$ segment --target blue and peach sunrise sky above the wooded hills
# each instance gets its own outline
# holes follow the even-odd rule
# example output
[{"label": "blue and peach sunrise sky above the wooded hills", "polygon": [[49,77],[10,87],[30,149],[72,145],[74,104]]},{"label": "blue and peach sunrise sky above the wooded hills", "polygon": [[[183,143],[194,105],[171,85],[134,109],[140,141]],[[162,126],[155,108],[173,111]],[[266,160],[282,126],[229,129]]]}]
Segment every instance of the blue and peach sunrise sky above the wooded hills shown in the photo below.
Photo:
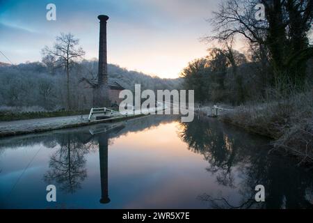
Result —
[{"label": "blue and peach sunrise sky above the wooded hills", "polygon": [[[109,15],[108,62],[148,75],[175,78],[189,61],[207,54],[200,38],[216,0],[0,0],[0,50],[13,63],[40,61],[40,50],[59,33],[72,33],[86,52],[98,56],[99,20]],[[46,6],[56,5],[56,21]],[[0,54],[0,61],[6,58]]]}]

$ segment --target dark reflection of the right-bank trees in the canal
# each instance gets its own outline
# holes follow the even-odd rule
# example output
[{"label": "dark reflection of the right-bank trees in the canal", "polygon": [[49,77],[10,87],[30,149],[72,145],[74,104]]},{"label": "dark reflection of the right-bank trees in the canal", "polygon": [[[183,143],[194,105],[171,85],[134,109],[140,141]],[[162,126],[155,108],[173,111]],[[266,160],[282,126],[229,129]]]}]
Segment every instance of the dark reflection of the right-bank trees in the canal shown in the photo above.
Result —
[{"label": "dark reflection of the right-bank trees in the canal", "polygon": [[[211,208],[312,208],[312,171],[296,167],[289,157],[268,153],[268,140],[200,118],[181,123],[179,137],[209,162],[207,171],[219,185],[238,189],[241,201],[202,194]],[[239,180],[235,180],[235,177]],[[236,182],[236,183],[235,183]],[[255,186],[265,187],[265,202],[255,201]]]}]

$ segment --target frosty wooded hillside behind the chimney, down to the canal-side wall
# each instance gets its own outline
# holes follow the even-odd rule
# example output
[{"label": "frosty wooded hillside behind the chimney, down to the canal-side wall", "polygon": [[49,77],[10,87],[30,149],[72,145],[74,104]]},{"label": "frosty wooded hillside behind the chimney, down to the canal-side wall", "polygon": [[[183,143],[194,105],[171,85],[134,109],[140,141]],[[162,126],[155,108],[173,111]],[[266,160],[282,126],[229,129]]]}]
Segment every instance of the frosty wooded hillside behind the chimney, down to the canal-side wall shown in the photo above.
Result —
[{"label": "frosty wooded hillside behind the chimney, down to the canal-side wall", "polygon": [[[62,67],[54,63],[20,63],[0,66],[0,111],[56,111],[67,105],[67,78]],[[74,63],[70,71],[70,98],[72,108],[81,110],[90,108],[88,102],[93,94],[79,84],[81,79],[97,81],[97,61]],[[181,79],[161,79],[142,72],[108,66],[109,80],[116,81],[125,89],[134,90],[135,84],[141,89],[172,90],[179,89]],[[17,109],[18,108],[18,109]]]}]

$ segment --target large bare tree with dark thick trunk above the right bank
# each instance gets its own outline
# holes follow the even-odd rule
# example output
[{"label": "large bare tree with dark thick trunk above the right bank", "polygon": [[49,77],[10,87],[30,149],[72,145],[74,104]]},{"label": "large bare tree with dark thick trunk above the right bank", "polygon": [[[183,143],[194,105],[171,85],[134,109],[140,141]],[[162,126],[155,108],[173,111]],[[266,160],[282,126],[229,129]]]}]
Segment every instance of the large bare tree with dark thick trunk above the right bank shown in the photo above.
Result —
[{"label": "large bare tree with dark thick trunk above the right bank", "polygon": [[[255,19],[257,3],[264,4],[266,20]],[[239,34],[250,43],[264,45],[275,87],[300,87],[306,61],[313,55],[307,38],[312,12],[312,0],[225,0],[210,20],[215,29],[208,39],[229,40]]]}]

